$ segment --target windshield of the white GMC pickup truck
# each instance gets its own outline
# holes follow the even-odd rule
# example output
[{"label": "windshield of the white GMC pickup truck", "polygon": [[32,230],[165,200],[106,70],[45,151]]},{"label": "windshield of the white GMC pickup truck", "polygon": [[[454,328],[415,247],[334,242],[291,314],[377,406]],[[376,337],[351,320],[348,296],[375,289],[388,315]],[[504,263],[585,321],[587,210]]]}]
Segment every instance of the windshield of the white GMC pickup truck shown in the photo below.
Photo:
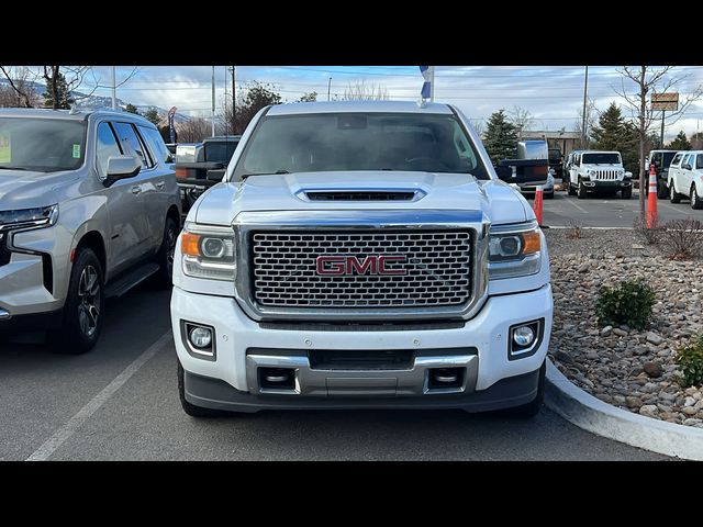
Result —
[{"label": "windshield of the white GMC pickup truck", "polygon": [[234,179],[326,170],[471,172],[489,179],[456,116],[415,113],[266,116],[247,142]]}]

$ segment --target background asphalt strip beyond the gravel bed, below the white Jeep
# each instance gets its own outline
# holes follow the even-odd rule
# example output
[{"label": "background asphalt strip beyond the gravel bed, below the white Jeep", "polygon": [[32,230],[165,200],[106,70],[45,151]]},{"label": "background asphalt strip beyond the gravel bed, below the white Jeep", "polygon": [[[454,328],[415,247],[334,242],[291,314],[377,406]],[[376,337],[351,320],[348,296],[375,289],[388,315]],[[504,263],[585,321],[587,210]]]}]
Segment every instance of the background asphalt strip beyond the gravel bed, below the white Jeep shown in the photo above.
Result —
[{"label": "background asphalt strip beyond the gravel bed, below the white Jeep", "polygon": [[[635,190],[629,200],[591,194],[579,200],[565,191],[557,191],[553,200],[544,200],[543,223],[550,227],[568,227],[572,224],[583,227],[632,227],[639,216],[638,192]],[[659,223],[689,217],[703,221],[703,211],[691,209],[688,200],[676,205],[669,200],[658,200],[657,209]]]}]

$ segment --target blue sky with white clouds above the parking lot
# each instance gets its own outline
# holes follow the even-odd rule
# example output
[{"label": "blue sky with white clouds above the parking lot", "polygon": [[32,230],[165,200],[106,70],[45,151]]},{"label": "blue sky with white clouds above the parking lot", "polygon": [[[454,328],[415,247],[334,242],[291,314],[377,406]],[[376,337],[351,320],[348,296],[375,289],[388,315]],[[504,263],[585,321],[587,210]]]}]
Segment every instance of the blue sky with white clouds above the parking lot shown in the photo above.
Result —
[{"label": "blue sky with white clouds above the parking lot", "polygon": [[[227,68],[215,66],[217,110],[225,100],[227,103],[231,100],[232,78]],[[110,70],[94,67],[80,91],[98,83],[104,88],[97,93],[109,96]],[[118,83],[132,70],[118,67]],[[235,71],[237,92],[249,81],[268,82],[284,101],[294,101],[311,91],[317,92],[317,100],[326,100],[328,83],[334,98],[357,82],[383,88],[391,100],[417,100],[423,82],[416,66],[236,66]],[[703,67],[680,66],[672,72],[682,78],[676,86],[682,98],[703,85]],[[211,66],[142,66],[118,88],[118,97],[133,104],[164,109],[175,105],[186,115],[210,116],[211,81]],[[589,67],[588,97],[600,111],[612,101],[618,102],[628,116],[628,106],[615,92],[622,90],[623,81],[628,92],[636,90],[632,81],[617,72],[617,67]],[[531,130],[574,131],[583,105],[583,66],[436,66],[435,101],[456,104],[473,122],[484,122],[496,110],[510,113],[518,106],[531,113]],[[688,135],[703,131],[703,100],[693,103],[677,122],[670,121],[673,119],[667,121],[667,141],[680,130]],[[658,125],[656,130],[659,131]]]}]

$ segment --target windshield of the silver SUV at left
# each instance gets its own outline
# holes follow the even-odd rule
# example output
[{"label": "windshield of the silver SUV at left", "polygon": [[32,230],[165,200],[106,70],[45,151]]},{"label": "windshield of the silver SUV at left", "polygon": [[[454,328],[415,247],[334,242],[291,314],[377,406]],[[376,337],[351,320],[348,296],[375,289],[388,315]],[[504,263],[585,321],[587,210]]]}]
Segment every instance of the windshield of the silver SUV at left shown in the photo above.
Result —
[{"label": "windshield of the silver SUV at left", "polygon": [[74,170],[83,162],[85,145],[80,121],[0,117],[0,170]]}]

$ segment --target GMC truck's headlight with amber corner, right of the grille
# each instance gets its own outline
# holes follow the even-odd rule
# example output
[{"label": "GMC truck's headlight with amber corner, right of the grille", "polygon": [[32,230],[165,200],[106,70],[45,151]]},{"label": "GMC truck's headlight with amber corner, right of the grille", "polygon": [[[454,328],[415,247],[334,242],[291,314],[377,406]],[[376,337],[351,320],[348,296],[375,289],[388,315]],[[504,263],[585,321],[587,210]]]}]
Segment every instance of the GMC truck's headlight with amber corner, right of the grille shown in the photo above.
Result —
[{"label": "GMC truck's headlight with amber corner, right of the grille", "polygon": [[542,233],[537,222],[491,227],[488,243],[489,278],[526,277],[542,267]]}]

